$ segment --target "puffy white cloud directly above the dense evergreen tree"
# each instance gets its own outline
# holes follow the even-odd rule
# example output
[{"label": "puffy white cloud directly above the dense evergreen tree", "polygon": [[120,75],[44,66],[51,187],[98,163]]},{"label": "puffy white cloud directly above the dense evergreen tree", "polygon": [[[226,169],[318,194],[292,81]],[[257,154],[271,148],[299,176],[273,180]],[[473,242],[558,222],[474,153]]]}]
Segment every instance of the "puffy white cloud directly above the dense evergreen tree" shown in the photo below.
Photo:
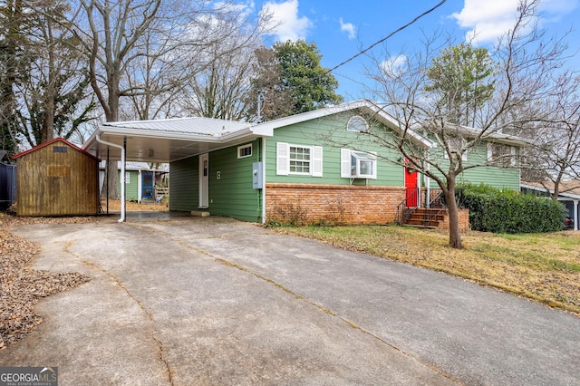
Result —
[{"label": "puffy white cloud directly above the dense evergreen tree", "polygon": [[274,35],[280,42],[287,40],[295,42],[305,39],[312,22],[308,17],[298,16],[298,0],[287,0],[282,3],[268,1],[260,11],[261,15],[270,15],[270,26],[274,28]]}]

